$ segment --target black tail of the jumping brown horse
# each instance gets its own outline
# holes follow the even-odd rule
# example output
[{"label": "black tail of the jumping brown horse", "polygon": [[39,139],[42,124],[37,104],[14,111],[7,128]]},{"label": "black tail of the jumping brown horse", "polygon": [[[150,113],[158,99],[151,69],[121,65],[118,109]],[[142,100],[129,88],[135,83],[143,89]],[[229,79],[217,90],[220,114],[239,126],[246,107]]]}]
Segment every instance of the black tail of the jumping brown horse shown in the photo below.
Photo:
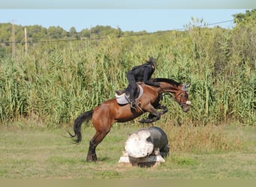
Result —
[{"label": "black tail of the jumping brown horse", "polygon": [[73,126],[75,135],[72,135],[70,132],[68,132],[70,134],[71,138],[73,138],[73,141],[75,144],[79,144],[80,141],[82,140],[82,133],[81,133],[82,123],[85,120],[86,121],[91,120],[91,117],[93,114],[94,114],[94,110],[85,111],[85,113],[80,114],[79,117],[76,118],[74,126]]}]

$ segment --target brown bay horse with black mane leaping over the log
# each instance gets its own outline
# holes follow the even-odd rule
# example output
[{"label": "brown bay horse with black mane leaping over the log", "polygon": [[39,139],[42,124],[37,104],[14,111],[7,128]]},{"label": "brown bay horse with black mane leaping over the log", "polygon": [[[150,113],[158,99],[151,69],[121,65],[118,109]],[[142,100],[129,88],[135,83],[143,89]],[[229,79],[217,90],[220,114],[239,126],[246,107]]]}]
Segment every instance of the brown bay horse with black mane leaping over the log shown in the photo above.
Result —
[{"label": "brown bay horse with black mane leaping over the log", "polygon": [[[92,120],[96,133],[91,138],[87,155],[87,162],[96,162],[97,154],[96,147],[103,141],[103,138],[110,132],[113,123],[124,123],[135,119],[136,117],[149,112],[148,119],[140,120],[141,123],[152,123],[159,120],[162,114],[168,111],[167,107],[159,102],[162,99],[162,94],[170,93],[174,96],[174,100],[180,105],[184,112],[189,111],[191,102],[189,101],[189,85],[175,82],[172,79],[156,78],[153,82],[159,82],[159,87],[145,85],[143,82],[138,82],[143,88],[143,94],[137,99],[135,109],[130,108],[130,105],[120,105],[117,100],[109,99],[97,105],[90,111],[85,111],[76,118],[73,125],[74,135],[70,132],[69,135],[75,144],[82,141],[81,126],[84,121]],[[161,109],[161,111],[157,111]]]}]

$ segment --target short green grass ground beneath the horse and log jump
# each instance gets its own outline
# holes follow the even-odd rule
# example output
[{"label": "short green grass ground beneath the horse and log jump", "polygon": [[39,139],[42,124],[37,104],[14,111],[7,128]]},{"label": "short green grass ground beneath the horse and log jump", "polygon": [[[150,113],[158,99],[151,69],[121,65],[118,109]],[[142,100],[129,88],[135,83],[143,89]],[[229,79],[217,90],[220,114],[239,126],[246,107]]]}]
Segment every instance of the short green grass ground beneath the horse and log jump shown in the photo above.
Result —
[{"label": "short green grass ground beneath the horse and log jump", "polygon": [[[153,168],[118,164],[124,142],[130,132],[140,128],[138,126],[113,126],[97,147],[99,161],[93,163],[85,162],[88,142],[94,135],[91,126],[83,125],[82,143],[77,146],[65,138],[66,130],[71,128],[33,129],[22,127],[22,123],[0,128],[1,179],[255,179],[256,176],[255,126],[216,127],[222,132],[222,138],[235,139],[240,145],[229,150],[196,151],[173,147],[165,163]],[[182,126],[175,128],[187,131]],[[189,128],[195,132],[198,127]],[[177,144],[175,140],[173,144]],[[183,144],[190,144],[189,139]]]}]

